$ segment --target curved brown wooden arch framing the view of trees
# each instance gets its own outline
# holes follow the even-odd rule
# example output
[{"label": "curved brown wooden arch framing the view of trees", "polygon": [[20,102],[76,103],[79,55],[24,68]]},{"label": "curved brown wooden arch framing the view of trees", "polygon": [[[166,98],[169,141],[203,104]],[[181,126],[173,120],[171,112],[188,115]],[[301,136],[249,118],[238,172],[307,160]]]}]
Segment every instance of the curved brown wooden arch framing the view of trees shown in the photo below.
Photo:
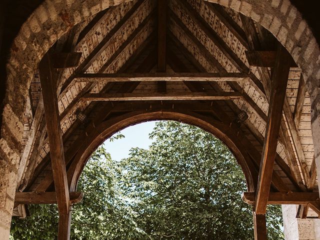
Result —
[{"label": "curved brown wooden arch framing the view of trees", "polygon": [[96,126],[94,131],[86,137],[80,150],[75,155],[67,170],[67,178],[70,191],[76,189],[78,179],[89,159],[92,152],[108,137],[116,131],[121,130],[130,125],[150,121],[150,120],[176,120],[187,124],[196,125],[219,138],[231,150],[238,164],[244,173],[247,188],[254,191],[257,182],[257,169],[252,163],[251,158],[244,150],[236,132],[234,132],[227,124],[211,118],[199,116],[194,112],[177,111],[177,110],[151,110],[151,111],[134,111],[126,113],[120,117],[106,120]]}]

